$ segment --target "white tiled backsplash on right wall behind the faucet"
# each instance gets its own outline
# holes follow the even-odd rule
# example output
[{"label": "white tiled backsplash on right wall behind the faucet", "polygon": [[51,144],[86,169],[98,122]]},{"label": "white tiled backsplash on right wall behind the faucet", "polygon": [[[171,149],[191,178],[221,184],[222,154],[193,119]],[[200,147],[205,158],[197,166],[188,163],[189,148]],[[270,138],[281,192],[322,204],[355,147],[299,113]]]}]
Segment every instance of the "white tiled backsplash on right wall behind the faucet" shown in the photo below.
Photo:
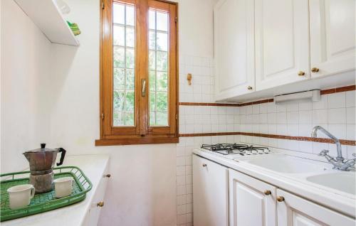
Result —
[{"label": "white tiled backsplash on right wall behind the faucet", "polygon": [[[339,139],[355,140],[355,91],[322,95],[318,102],[296,102],[276,105],[273,102],[248,105],[240,108],[240,131],[286,136],[310,136],[311,130],[320,125]],[[318,133],[319,137],[325,137]],[[318,154],[329,149],[336,154],[335,144],[310,141],[271,139],[242,136],[241,142],[260,144]],[[355,146],[342,146],[350,158]]]}]

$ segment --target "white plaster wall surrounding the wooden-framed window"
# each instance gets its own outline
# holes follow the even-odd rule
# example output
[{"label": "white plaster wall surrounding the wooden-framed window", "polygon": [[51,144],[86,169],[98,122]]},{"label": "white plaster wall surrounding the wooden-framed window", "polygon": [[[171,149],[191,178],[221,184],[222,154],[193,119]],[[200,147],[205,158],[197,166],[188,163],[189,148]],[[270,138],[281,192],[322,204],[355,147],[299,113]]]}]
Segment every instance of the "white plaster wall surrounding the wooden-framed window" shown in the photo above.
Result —
[{"label": "white plaster wall surrounding the wooden-framed window", "polygon": [[[63,146],[68,154],[110,154],[112,177],[100,225],[176,225],[175,144],[94,146],[100,120],[99,1],[67,2],[68,18],[82,33],[78,48],[53,44],[51,146]],[[180,58],[212,57],[209,21],[212,1],[179,1]]]}]

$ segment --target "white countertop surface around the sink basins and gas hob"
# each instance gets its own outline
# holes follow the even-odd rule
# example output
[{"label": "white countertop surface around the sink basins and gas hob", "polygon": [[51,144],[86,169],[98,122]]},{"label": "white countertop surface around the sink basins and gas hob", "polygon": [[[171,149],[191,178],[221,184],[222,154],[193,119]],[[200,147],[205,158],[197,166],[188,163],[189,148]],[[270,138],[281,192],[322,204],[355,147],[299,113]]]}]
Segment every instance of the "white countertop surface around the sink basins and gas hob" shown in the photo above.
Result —
[{"label": "white countertop surface around the sink basins and gas hob", "polygon": [[[278,151],[279,154],[288,154],[290,156],[298,156],[320,161],[320,157],[316,157],[316,155],[312,154],[303,154],[281,149],[275,149],[275,151]],[[234,161],[229,158],[224,158],[224,156],[213,154],[210,151],[194,149],[193,153],[228,168],[240,171],[241,173],[246,173],[248,176],[258,178],[261,181],[275,185],[278,188],[299,195],[300,197],[311,200],[314,203],[336,210],[337,212],[342,212],[350,217],[355,217],[355,195],[311,183],[298,177],[298,175],[294,173],[278,173],[276,171],[268,170],[267,168],[262,168],[261,166],[255,166],[248,162]]]}]

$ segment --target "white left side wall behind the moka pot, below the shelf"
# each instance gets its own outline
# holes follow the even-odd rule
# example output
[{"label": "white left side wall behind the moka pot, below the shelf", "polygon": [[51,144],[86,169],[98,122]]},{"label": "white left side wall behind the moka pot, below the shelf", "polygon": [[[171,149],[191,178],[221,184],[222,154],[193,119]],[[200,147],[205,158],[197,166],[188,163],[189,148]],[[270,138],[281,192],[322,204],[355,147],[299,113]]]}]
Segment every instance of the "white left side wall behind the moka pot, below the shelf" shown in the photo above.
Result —
[{"label": "white left side wall behind the moka pot, below the shelf", "polygon": [[49,140],[51,43],[13,0],[1,0],[1,173]]}]

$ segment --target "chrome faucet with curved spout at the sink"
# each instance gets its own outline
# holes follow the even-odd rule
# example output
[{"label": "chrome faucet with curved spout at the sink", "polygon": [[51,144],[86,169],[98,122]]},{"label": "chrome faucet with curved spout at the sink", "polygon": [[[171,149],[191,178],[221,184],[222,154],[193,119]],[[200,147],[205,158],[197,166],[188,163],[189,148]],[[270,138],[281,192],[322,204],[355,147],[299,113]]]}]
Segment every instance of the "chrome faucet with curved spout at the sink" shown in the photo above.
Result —
[{"label": "chrome faucet with curved spout at the sink", "polygon": [[[312,137],[317,137],[317,131],[318,130],[322,131],[324,134],[326,134],[331,139],[333,139],[333,141],[336,144],[336,149],[337,149],[337,157],[336,158],[334,158],[332,156],[329,156],[328,155],[328,153],[329,153],[328,150],[321,151],[319,156],[325,156],[325,158],[328,160],[328,162],[333,164],[334,168],[336,168],[337,170],[350,171],[350,168],[355,166],[356,158],[347,160],[344,157],[342,157],[341,144],[340,144],[339,139],[337,139],[333,134],[330,134],[330,132],[327,131],[326,129],[324,129],[323,127],[320,127],[320,126],[314,127],[313,130],[312,130],[311,136]],[[352,154],[352,156],[356,156],[356,155]]]}]

